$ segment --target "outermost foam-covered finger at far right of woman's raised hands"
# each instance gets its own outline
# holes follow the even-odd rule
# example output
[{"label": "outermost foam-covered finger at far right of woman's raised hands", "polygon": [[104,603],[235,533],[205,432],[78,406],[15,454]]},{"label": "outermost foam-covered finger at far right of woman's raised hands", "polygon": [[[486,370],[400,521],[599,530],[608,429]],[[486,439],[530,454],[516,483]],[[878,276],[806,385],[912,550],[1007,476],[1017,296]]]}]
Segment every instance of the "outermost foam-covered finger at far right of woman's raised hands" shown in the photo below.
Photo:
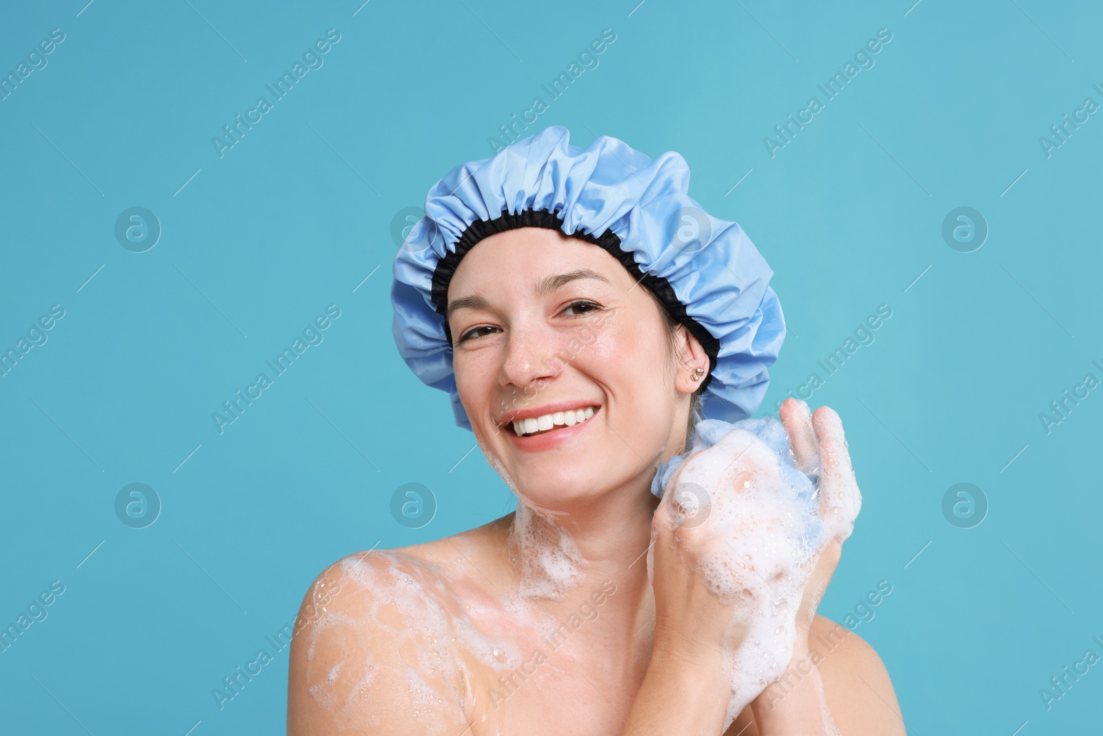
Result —
[{"label": "outermost foam-covered finger at far right of woman's raised hands", "polygon": [[845,540],[861,508],[861,492],[850,465],[843,420],[831,407],[821,406],[812,415],[812,426],[820,440],[820,515],[833,534]]}]

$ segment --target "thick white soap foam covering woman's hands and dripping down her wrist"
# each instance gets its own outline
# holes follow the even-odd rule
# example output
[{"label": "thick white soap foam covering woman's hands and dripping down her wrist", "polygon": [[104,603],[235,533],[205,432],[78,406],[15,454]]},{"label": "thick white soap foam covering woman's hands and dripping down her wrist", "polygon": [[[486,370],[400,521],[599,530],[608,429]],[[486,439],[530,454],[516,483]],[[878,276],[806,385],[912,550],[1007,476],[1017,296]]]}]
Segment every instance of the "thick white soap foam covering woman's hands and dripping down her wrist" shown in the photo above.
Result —
[{"label": "thick white soap foam covering woman's hands and dripping down her wrist", "polygon": [[843,477],[842,448],[832,447],[833,457],[824,458],[824,471],[833,473],[825,486],[839,492],[824,503],[821,479],[796,468],[784,425],[772,416],[698,423],[693,450],[656,474],[671,494],[666,503],[674,513],[667,522],[695,527],[704,550],[697,573],[724,602],[735,604],[730,626],[745,631],[739,648],[725,652],[731,675],[725,729],[784,673],[801,598],[820,554],[831,538],[845,540],[854,529],[861,495],[853,474]]}]

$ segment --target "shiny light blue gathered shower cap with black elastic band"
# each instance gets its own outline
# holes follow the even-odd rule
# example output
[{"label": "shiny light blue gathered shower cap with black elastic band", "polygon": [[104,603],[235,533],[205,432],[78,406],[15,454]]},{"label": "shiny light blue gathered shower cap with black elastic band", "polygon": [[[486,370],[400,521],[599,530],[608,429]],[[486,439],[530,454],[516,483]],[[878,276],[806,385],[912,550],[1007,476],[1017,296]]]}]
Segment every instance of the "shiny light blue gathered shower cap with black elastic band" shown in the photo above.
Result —
[{"label": "shiny light blue gathered shower cap with black elastic band", "polygon": [[456,387],[448,284],[484,237],[546,227],[601,246],[686,326],[708,353],[702,413],[737,422],[758,410],[785,321],[773,271],[733,222],[689,196],[689,167],[674,151],[652,160],[617,138],[585,149],[550,126],[493,157],[449,171],[394,263],[392,324],[398,353],[426,385],[447,391],[456,424],[471,429]]}]

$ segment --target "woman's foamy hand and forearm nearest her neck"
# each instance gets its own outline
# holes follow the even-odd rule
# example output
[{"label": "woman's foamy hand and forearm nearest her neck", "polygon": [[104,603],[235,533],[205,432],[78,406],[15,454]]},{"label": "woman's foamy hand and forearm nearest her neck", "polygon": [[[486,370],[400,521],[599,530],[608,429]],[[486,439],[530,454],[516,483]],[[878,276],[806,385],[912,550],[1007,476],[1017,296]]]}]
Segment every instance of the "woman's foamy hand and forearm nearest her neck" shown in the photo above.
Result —
[{"label": "woman's foamy hand and forearm nearest her neck", "polygon": [[[716,446],[689,455],[671,478],[652,520],[647,551],[655,600],[652,657],[625,735],[718,734],[765,684],[741,702],[731,697],[735,653],[753,611],[761,608],[760,598],[733,583],[749,579],[758,588],[763,573],[732,546],[737,533],[729,522],[738,518],[733,500],[761,495],[780,483],[773,451],[746,430],[733,430]],[[784,520],[773,512],[783,515],[780,508],[772,509],[765,526],[780,531]],[[745,536],[751,543],[758,538]],[[726,569],[728,564],[733,567]],[[764,569],[765,576],[775,575],[771,567]],[[789,601],[790,619],[799,597]],[[786,661],[781,659],[781,665]],[[673,698],[677,708],[672,708]]]}]

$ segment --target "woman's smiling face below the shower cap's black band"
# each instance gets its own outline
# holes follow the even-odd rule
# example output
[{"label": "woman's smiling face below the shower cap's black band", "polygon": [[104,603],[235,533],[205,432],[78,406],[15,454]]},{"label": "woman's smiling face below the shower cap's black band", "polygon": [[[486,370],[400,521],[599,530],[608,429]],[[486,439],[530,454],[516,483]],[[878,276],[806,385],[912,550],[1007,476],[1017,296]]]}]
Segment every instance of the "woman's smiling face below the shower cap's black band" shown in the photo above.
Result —
[{"label": "woman's smiling face below the shower cap's black band", "polygon": [[[448,305],[475,438],[531,504],[647,486],[679,449],[689,394],[675,387],[662,307],[601,247],[540,227],[491,235],[460,262]],[[595,414],[572,426],[557,414],[578,409]],[[518,415],[552,415],[553,428],[518,436]]]}]

